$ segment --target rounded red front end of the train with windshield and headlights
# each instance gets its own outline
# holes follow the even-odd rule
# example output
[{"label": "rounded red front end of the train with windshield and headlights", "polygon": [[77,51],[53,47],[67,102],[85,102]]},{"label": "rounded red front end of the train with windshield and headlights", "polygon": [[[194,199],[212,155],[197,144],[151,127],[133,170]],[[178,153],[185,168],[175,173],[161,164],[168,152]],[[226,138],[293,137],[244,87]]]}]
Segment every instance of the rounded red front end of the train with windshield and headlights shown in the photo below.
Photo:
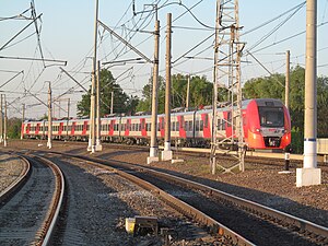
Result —
[{"label": "rounded red front end of the train with windshield and headlights", "polygon": [[250,99],[244,132],[249,149],[284,150],[291,144],[291,118],[279,99]]}]

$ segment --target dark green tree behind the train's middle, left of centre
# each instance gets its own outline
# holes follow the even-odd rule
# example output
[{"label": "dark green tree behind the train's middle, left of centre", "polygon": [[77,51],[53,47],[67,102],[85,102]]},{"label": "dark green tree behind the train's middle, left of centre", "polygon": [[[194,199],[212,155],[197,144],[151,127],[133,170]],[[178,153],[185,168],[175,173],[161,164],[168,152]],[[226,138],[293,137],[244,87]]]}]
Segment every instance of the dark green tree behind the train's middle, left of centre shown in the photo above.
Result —
[{"label": "dark green tree behind the train's middle, left of centre", "polygon": [[[137,96],[128,96],[119,84],[116,83],[112,72],[107,69],[102,69],[99,74],[101,81],[101,116],[110,113],[112,92],[114,92],[114,113],[133,114],[138,105],[139,98]],[[78,103],[78,115],[90,115],[90,97],[91,86],[86,94],[82,95],[82,99]]]}]

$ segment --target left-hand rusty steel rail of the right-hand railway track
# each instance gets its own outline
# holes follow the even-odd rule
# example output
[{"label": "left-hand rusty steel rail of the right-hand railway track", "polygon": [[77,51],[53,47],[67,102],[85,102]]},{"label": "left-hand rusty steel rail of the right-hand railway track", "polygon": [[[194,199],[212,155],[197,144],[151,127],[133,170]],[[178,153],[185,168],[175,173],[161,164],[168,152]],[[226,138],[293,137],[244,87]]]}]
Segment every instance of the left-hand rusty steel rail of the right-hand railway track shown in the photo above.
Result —
[{"label": "left-hand rusty steel rail of the right-hand railway track", "polygon": [[[59,152],[50,152],[50,153],[62,155],[62,153],[59,153]],[[142,187],[143,189],[149,190],[153,195],[157,196],[160,199],[165,201],[168,206],[171,206],[175,210],[179,211],[180,213],[185,214],[186,216],[191,218],[191,219],[198,221],[199,223],[206,225],[211,233],[222,236],[223,238],[225,238],[236,245],[245,245],[245,246],[254,246],[255,245],[254,243],[244,238],[242,235],[239,235],[239,234],[235,233],[234,231],[230,230],[229,227],[224,226],[220,222],[208,216],[207,214],[204,214],[201,211],[197,210],[196,208],[189,206],[188,203],[179,200],[178,198],[165,192],[164,190],[160,189],[159,187],[152,185],[151,183],[145,181],[132,174],[128,174],[127,172],[120,171],[113,166],[109,167],[109,166],[105,165],[104,160],[89,157],[89,156],[81,157],[81,156],[74,155],[74,154],[65,154],[65,156],[74,157],[78,160],[83,159],[84,161],[87,161],[87,162],[92,163],[93,165],[96,165],[101,168],[114,171],[121,177],[132,181],[133,184],[137,184],[138,186]],[[109,164],[109,163],[106,163],[106,164]]]}]

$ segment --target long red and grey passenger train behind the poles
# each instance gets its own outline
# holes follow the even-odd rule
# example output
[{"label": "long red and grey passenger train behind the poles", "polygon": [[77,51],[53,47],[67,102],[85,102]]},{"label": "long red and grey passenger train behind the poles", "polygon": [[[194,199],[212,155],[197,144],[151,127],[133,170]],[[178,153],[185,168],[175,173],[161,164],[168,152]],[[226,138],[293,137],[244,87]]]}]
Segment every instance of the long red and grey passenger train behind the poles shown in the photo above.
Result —
[{"label": "long red and grey passenger train behind the poles", "polygon": [[[171,114],[172,141],[191,147],[209,147],[211,141],[212,109],[177,112]],[[218,109],[218,139],[234,134],[230,108]],[[257,98],[243,101],[244,141],[248,149],[283,150],[291,143],[291,119],[286,107],[279,99]],[[52,138],[83,140],[89,138],[90,120],[52,120]],[[47,138],[45,120],[22,124],[24,138]],[[113,116],[101,119],[103,141],[147,144],[151,136],[151,115]],[[165,115],[157,116],[157,138],[165,136]]]}]

